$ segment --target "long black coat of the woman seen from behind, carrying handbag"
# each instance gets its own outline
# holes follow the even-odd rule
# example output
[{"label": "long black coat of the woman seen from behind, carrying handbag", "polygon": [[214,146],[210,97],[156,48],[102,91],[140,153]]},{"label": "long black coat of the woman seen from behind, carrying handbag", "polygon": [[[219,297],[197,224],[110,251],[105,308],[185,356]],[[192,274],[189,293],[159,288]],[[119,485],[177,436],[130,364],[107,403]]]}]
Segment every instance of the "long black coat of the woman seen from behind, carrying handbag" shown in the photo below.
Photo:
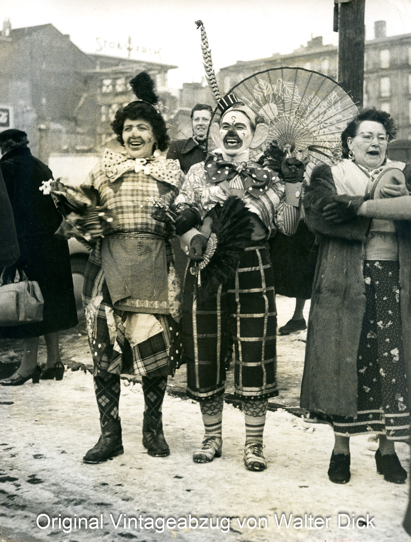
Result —
[{"label": "long black coat of the woman seen from behind, carrying handbag", "polygon": [[40,286],[44,298],[43,321],[1,328],[8,338],[29,338],[64,330],[77,324],[67,241],[54,235],[61,215],[51,196],[39,190],[53,178],[49,168],[27,147],[14,149],[0,159],[10,198],[21,255],[17,266]]}]

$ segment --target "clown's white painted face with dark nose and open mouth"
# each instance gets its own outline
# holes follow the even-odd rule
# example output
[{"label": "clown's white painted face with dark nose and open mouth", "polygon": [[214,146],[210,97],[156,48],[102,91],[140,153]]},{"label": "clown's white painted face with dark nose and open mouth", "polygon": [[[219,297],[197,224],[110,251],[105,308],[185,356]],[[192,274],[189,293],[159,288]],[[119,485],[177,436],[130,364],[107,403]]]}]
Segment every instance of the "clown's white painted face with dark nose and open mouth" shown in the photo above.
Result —
[{"label": "clown's white painted face with dark nose and open mouth", "polygon": [[220,124],[220,137],[224,152],[228,156],[238,156],[250,148],[255,130],[250,119],[242,111],[227,111]]}]

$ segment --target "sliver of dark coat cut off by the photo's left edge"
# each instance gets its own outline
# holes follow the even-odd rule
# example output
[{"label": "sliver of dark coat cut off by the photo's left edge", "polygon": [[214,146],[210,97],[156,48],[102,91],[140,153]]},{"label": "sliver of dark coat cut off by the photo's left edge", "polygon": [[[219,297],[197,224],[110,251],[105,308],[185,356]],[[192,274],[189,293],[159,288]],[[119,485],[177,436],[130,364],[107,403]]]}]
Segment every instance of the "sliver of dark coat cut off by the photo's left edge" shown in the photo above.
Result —
[{"label": "sliver of dark coat cut off by the photo's left edge", "polygon": [[13,211],[0,169],[0,268],[14,263],[19,255]]}]

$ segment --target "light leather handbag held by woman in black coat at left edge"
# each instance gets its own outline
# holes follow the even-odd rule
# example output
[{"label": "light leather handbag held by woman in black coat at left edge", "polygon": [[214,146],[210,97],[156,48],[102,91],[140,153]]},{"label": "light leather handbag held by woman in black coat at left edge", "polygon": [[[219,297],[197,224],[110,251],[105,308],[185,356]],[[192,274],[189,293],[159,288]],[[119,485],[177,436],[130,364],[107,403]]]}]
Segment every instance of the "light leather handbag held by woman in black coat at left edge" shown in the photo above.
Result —
[{"label": "light leather handbag held by woman in black coat at left edge", "polygon": [[38,283],[29,280],[22,269],[16,269],[11,282],[10,277],[6,278],[5,270],[0,276],[0,326],[41,322],[44,299]]}]

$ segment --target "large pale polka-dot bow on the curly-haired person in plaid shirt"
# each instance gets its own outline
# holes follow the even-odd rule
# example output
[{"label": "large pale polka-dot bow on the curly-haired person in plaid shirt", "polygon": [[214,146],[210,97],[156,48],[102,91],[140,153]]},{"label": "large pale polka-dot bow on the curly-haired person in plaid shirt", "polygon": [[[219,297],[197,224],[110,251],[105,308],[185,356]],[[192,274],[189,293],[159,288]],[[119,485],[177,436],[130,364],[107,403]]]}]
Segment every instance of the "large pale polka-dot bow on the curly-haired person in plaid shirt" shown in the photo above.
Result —
[{"label": "large pale polka-dot bow on the curly-haired person in plaid shirt", "polygon": [[172,186],[180,184],[180,165],[178,160],[167,160],[159,157],[129,158],[125,153],[114,152],[106,149],[101,161],[102,170],[112,183],[126,171],[142,171],[156,180]]}]

